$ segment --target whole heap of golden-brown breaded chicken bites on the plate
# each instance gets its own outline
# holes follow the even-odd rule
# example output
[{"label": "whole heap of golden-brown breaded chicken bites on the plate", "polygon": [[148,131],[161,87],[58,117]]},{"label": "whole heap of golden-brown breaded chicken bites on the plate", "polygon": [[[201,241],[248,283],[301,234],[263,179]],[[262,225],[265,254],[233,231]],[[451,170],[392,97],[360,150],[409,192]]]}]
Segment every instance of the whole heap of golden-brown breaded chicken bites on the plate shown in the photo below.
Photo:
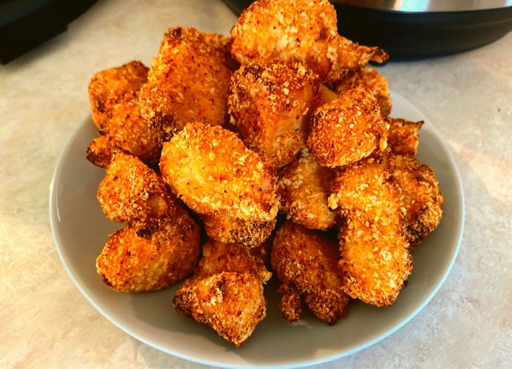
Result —
[{"label": "whole heap of golden-brown breaded chicken bites on the plate", "polygon": [[106,169],[106,217],[125,223],[97,258],[105,284],[191,275],[176,310],[237,346],[266,316],[270,271],[290,322],[393,304],[443,197],[416,159],[422,122],[389,117],[367,67],[387,58],[338,35],[328,1],[262,0],[229,38],[171,28],[151,68],[98,72],[87,158]]}]

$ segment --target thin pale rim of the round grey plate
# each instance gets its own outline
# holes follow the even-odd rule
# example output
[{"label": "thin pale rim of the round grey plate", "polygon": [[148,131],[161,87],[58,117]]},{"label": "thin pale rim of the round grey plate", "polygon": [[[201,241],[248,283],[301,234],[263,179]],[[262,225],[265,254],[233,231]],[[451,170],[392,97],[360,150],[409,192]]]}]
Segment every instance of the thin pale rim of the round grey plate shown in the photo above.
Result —
[{"label": "thin pale rim of the round grey plate", "polygon": [[73,271],[70,268],[70,265],[68,264],[68,262],[63,257],[63,253],[61,251],[61,245],[60,245],[60,242],[59,242],[58,237],[56,235],[56,222],[57,222],[57,219],[59,219],[59,214],[58,214],[58,209],[57,209],[57,206],[56,206],[56,204],[57,204],[57,201],[56,201],[56,199],[57,199],[57,197],[56,197],[57,196],[57,191],[56,191],[55,185],[56,185],[56,183],[58,183],[58,180],[60,178],[60,175],[61,175],[61,172],[62,172],[62,167],[63,167],[64,162],[65,162],[66,154],[70,151],[70,149],[72,147],[72,144],[75,141],[76,136],[79,134],[79,132],[81,130],[81,127],[83,126],[83,122],[86,121],[86,120],[90,120],[91,119],[90,118],[91,117],[90,114],[88,114],[88,117],[85,118],[84,120],[82,120],[80,125],[78,125],[78,127],[75,129],[75,131],[73,132],[73,134],[69,138],[66,146],[60,152],[60,155],[59,155],[59,158],[57,160],[57,164],[55,166],[55,170],[54,170],[54,173],[53,173],[53,176],[52,176],[52,180],[50,181],[50,188],[49,188],[49,190],[50,190],[50,194],[49,194],[50,195],[49,196],[49,200],[50,200],[50,203],[49,203],[50,228],[51,228],[52,238],[53,238],[53,242],[55,244],[55,248],[57,249],[57,253],[59,255],[60,261],[61,261],[64,269],[68,273],[68,276],[71,278],[71,280],[75,284],[75,286],[78,289],[78,291],[86,298],[86,300],[92,306],[94,306],[94,308],[101,315],[103,315],[106,319],[108,319],[111,323],[113,323],[115,326],[120,328],[122,331],[124,331],[125,333],[129,334],[130,336],[136,338],[137,340],[139,340],[139,341],[141,341],[141,342],[143,342],[143,343],[145,343],[145,344],[147,344],[147,345],[149,345],[151,347],[154,347],[157,350],[162,351],[162,352],[164,352],[166,354],[170,354],[170,355],[173,355],[173,356],[178,357],[180,359],[185,359],[185,360],[188,360],[188,361],[191,361],[191,362],[196,362],[196,363],[200,363],[200,364],[204,364],[204,365],[211,365],[211,366],[216,366],[216,367],[228,367],[228,368],[255,368],[255,367],[257,367],[257,368],[275,368],[275,369],[305,367],[305,366],[310,366],[310,365],[316,365],[316,364],[330,362],[330,361],[333,361],[333,360],[337,360],[337,359],[340,359],[340,358],[343,358],[343,357],[355,354],[355,353],[357,353],[359,351],[362,351],[365,348],[367,348],[367,347],[369,347],[371,345],[374,345],[375,343],[377,343],[377,342],[379,342],[379,341],[389,337],[390,335],[392,335],[393,333],[398,331],[401,327],[406,325],[409,321],[411,321],[421,310],[423,310],[425,308],[425,306],[432,300],[432,298],[437,294],[437,292],[439,292],[439,289],[441,288],[441,286],[445,282],[447,276],[450,274],[450,271],[453,268],[453,265],[455,263],[457,255],[459,254],[459,250],[460,250],[461,242],[462,242],[462,236],[464,234],[464,224],[465,224],[464,190],[463,190],[463,186],[462,186],[462,179],[461,179],[461,176],[460,176],[460,172],[459,172],[459,169],[457,167],[457,163],[455,162],[455,159],[453,157],[452,150],[446,144],[446,142],[442,138],[442,136],[439,133],[439,131],[432,124],[432,122],[425,116],[425,114],[423,114],[412,103],[410,103],[409,100],[407,100],[405,97],[403,97],[399,93],[395,92],[392,89],[390,89],[389,91],[390,91],[390,95],[392,95],[392,97],[393,97],[393,100],[395,100],[395,98],[398,98],[399,100],[401,100],[402,103],[406,103],[407,105],[409,105],[409,108],[414,110],[418,115],[421,115],[422,117],[424,117],[423,120],[428,125],[429,130],[436,136],[436,139],[440,142],[440,145],[443,147],[444,151],[446,152],[447,159],[449,160],[451,167],[454,169],[455,174],[456,174],[456,178],[458,180],[457,189],[458,189],[458,194],[460,195],[460,207],[461,207],[460,215],[461,216],[460,216],[460,218],[458,219],[458,222],[457,222],[457,229],[458,229],[458,232],[459,232],[459,237],[457,239],[457,245],[456,245],[455,251],[453,253],[452,259],[450,261],[450,264],[448,265],[448,267],[444,271],[444,274],[442,275],[442,277],[439,279],[439,282],[435,285],[434,289],[429,294],[429,296],[427,296],[423,300],[423,302],[412,313],[410,313],[400,323],[398,323],[394,327],[392,327],[389,331],[387,331],[385,333],[382,333],[380,336],[377,336],[376,338],[374,338],[374,339],[372,339],[372,340],[370,340],[370,341],[368,341],[368,342],[366,342],[364,344],[361,344],[359,346],[356,346],[356,347],[352,348],[351,350],[344,351],[344,352],[341,352],[339,354],[330,355],[330,356],[326,356],[326,357],[318,358],[318,359],[312,359],[312,360],[308,360],[308,361],[302,361],[302,362],[298,362],[298,363],[277,364],[277,365],[233,365],[233,364],[223,363],[223,362],[220,362],[220,361],[210,361],[210,360],[206,360],[206,359],[196,358],[196,357],[191,356],[191,355],[186,355],[186,354],[182,354],[182,353],[178,353],[178,352],[169,350],[168,348],[163,347],[163,346],[161,346],[159,344],[150,342],[150,340],[147,340],[144,337],[141,337],[140,335],[138,335],[137,333],[132,332],[130,329],[127,329],[126,327],[118,324],[113,318],[111,318],[109,316],[109,314],[105,313],[103,311],[103,309],[98,304],[96,304],[95,300],[89,294],[89,292],[86,291],[86,289],[84,289],[82,287],[82,285],[78,282],[78,280],[75,278],[74,273],[73,273]]}]

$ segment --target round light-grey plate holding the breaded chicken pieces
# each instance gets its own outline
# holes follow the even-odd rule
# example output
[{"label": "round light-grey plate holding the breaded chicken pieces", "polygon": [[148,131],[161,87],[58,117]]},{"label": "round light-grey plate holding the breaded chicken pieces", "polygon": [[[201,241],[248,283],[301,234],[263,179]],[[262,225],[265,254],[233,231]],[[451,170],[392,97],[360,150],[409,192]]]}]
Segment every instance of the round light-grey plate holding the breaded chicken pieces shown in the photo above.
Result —
[{"label": "round light-grey plate holding the breaded chicken pieces", "polygon": [[96,200],[105,171],[86,160],[87,147],[97,135],[90,117],[71,137],[51,185],[50,221],[64,267],[89,302],[122,330],[191,361],[224,367],[296,367],[350,355],[380,341],[414,317],[438,291],[455,261],[464,224],[462,185],[449,149],[406,99],[396,93],[391,97],[392,116],[425,120],[418,159],[434,169],[445,199],[442,221],[412,252],[413,273],[393,306],[377,308],[352,301],[348,316],[333,326],[307,311],[297,323],[288,323],[278,308],[274,277],[265,289],[267,317],[237,348],[207,326],[176,313],[172,298],[177,285],[145,293],[107,288],[96,273],[95,259],[109,233],[122,226],[107,220]]}]

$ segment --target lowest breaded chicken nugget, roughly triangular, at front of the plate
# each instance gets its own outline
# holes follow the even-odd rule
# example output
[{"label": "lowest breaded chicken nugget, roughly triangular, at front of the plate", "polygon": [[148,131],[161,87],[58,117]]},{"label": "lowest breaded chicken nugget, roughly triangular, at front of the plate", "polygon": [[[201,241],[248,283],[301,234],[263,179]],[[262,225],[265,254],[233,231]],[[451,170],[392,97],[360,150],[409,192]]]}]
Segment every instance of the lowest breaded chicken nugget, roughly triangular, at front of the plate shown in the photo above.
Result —
[{"label": "lowest breaded chicken nugget, roughly triangular, at front of the plate", "polygon": [[267,315],[263,284],[253,272],[224,272],[181,288],[173,298],[176,311],[214,329],[237,347]]}]

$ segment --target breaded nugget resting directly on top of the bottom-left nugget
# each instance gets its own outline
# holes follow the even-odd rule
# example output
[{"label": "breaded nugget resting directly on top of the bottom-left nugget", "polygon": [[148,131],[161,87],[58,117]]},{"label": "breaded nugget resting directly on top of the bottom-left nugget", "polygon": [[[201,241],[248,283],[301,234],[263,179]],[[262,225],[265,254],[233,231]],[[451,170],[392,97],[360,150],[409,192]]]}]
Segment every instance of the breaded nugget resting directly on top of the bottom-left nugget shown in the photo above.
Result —
[{"label": "breaded nugget resting directly on top of the bottom-left nugget", "polygon": [[97,194],[106,217],[144,228],[167,214],[172,199],[165,183],[139,158],[116,152]]}]

